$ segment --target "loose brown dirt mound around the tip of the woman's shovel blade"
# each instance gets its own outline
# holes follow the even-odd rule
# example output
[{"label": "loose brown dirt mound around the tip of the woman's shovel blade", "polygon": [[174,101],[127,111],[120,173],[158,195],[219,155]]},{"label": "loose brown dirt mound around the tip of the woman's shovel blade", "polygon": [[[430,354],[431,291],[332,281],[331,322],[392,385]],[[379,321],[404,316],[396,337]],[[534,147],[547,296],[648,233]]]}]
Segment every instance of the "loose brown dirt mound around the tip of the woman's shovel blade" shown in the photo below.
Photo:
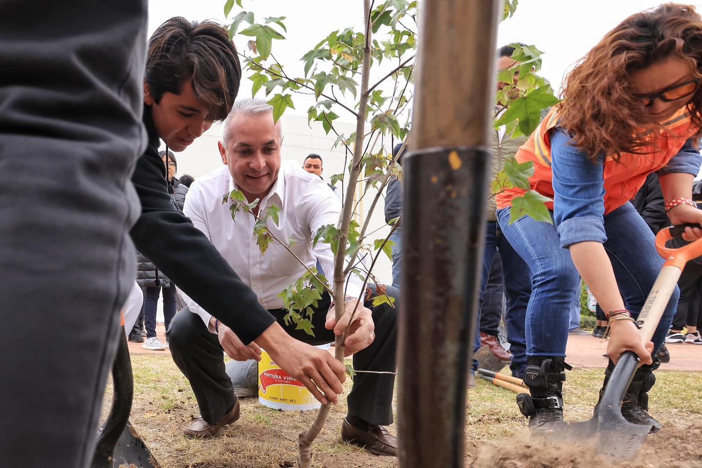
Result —
[{"label": "loose brown dirt mound around the tip of the woman's shovel blade", "polygon": [[702,422],[676,427],[666,424],[648,436],[632,460],[612,462],[588,441],[578,443],[535,439],[486,443],[475,468],[702,468]]}]

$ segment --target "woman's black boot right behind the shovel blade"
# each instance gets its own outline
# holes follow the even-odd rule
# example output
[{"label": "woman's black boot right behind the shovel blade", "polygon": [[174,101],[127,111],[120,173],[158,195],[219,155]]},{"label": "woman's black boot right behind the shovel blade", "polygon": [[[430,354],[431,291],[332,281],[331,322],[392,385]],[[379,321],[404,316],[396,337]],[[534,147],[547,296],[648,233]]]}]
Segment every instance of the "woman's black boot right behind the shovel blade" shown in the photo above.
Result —
[{"label": "woman's black boot right behind the shovel blade", "polygon": [[[647,413],[649,410],[648,392],[656,383],[656,376],[653,371],[658,366],[661,366],[661,361],[654,359],[654,363],[651,366],[638,368],[621,402],[621,415],[624,419],[633,424],[653,424],[651,434],[661,429],[661,423]],[[610,359],[607,370],[604,371],[604,383],[600,390],[600,398],[604,394],[604,387],[607,387],[607,382],[609,382],[609,377],[613,370],[614,363]]]}]

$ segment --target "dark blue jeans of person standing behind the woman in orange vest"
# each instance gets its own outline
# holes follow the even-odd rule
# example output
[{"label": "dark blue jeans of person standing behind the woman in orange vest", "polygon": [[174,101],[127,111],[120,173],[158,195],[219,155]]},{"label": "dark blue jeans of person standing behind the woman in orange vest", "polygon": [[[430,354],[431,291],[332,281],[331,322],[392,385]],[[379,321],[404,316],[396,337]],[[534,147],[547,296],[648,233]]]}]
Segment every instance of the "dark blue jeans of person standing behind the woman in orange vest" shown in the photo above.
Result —
[{"label": "dark blue jeans of person standing behind the woman in orange vest", "polygon": [[[515,377],[524,377],[524,368],[527,367],[527,339],[524,335],[524,323],[527,317],[527,305],[531,296],[531,275],[529,267],[510,245],[508,239],[500,231],[496,221],[488,221],[485,233],[485,253],[483,257],[483,274],[480,282],[480,297],[485,293],[485,286],[490,274],[490,266],[495,252],[500,251],[502,260],[503,286],[507,298],[505,312],[505,327],[507,340],[510,342],[512,363],[510,370]],[[480,309],[478,309],[477,322],[480,323]],[[474,351],[480,349],[480,327],[475,327]],[[474,368],[477,361],[473,360]]]}]

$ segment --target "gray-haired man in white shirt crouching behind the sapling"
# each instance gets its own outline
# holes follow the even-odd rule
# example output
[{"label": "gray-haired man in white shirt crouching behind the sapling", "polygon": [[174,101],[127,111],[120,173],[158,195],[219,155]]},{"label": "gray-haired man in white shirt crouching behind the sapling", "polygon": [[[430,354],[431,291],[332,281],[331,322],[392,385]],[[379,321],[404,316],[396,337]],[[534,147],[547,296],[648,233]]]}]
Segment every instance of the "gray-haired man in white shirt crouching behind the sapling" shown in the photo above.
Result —
[{"label": "gray-haired man in white shirt crouching behind the sapling", "polygon": [[[331,298],[324,293],[314,308],[314,336],[296,330],[295,324],[286,325],[286,310],[278,295],[305,274],[305,267],[277,241],[272,241],[262,255],[253,236],[254,216],[239,211],[232,220],[231,202],[223,204],[222,199],[224,194],[239,189],[249,203],[260,200],[257,215],[270,206],[279,207],[279,222],[276,225],[269,219],[267,228],[281,241],[293,244],[291,249],[307,267],[314,267],[319,260],[326,272],[333,272],[331,248],[322,241],[312,246],[312,239],[319,227],[337,224],[340,202],[321,178],[303,171],[294,161],[281,162],[281,123],[273,123],[272,107],[264,100],[237,100],[223,128],[219,149],[225,166],[193,183],[185,199],[185,215],[208,236],[289,335],[312,345],[332,342],[345,330],[358,298],[364,297],[362,282],[355,274],[347,277],[346,312],[338,323],[330,309]],[[255,342],[243,345],[227,326],[190,298],[184,299],[189,311],[173,319],[168,341],[173,360],[190,380],[201,413],[184,432],[192,437],[211,437],[221,426],[236,420],[220,422],[238,403],[225,372],[223,351],[243,361],[260,359],[260,348]],[[358,305],[345,341],[347,355],[354,354],[355,369],[395,371],[396,317],[395,309],[388,305],[372,311]],[[392,424],[394,384],[391,374],[359,373],[354,377],[347,397],[343,440],[376,455],[397,456],[397,439],[383,427]]]}]

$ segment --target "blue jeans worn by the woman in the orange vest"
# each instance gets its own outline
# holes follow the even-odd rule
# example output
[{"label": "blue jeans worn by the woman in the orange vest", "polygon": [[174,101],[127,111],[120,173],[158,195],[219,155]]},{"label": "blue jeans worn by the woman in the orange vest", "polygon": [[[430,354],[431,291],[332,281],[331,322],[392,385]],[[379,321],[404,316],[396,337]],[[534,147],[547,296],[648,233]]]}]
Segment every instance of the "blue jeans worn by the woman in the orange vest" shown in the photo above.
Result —
[{"label": "blue jeans worn by the woman in the orange vest", "polygon": [[[560,247],[555,225],[527,216],[510,225],[510,208],[498,210],[497,216],[505,236],[531,269],[527,356],[564,357],[571,305],[580,286],[570,251]],[[631,203],[605,215],[604,230],[604,249],[624,303],[633,316],[638,316],[663,266],[654,246],[654,234]],[[654,334],[656,351],[665,340],[679,297],[675,288]]]}]

